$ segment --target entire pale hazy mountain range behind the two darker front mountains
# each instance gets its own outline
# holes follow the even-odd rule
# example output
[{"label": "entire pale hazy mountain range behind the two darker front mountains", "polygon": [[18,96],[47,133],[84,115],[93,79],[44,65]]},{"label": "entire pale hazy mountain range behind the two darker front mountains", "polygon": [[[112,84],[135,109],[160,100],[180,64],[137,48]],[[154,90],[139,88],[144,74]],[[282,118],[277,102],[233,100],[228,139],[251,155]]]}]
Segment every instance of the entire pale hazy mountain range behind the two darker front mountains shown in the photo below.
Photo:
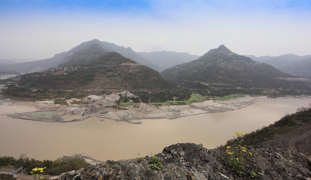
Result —
[{"label": "entire pale hazy mountain range behind the two darker front mountains", "polygon": [[[20,73],[46,70],[52,67],[56,67],[57,65],[63,63],[66,58],[71,56],[76,51],[85,50],[93,44],[98,44],[105,51],[118,52],[129,59],[132,59],[142,65],[147,65],[159,72],[174,65],[189,62],[199,57],[198,55],[189,54],[187,52],[172,52],[164,50],[154,52],[135,52],[130,47],[123,47],[114,43],[93,39],[90,41],[82,42],[81,44],[71,48],[66,52],[55,54],[53,57],[47,59],[32,60],[27,62],[20,62],[25,61],[25,59],[17,59],[16,62],[19,61],[19,63],[12,63],[9,60],[0,59],[0,70],[16,71]],[[298,56],[295,54],[284,54],[275,57],[256,57],[254,55],[245,56],[250,57],[251,59],[258,62],[270,64],[275,68],[292,75],[311,77],[311,70],[309,70],[310,68],[307,68],[311,63],[310,60],[307,59],[310,59],[311,55]]]}]

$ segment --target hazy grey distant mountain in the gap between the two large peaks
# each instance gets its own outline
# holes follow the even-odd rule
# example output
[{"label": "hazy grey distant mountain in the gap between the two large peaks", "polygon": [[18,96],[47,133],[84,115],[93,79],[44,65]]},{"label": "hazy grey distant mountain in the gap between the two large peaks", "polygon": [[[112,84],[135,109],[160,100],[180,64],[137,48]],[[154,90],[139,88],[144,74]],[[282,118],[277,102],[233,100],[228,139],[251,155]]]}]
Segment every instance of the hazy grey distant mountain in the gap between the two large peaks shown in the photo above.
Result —
[{"label": "hazy grey distant mountain in the gap between the two large peaks", "polygon": [[159,66],[159,71],[172,67],[177,64],[189,62],[197,59],[198,55],[192,55],[187,52],[173,51],[154,51],[154,52],[137,52],[139,55],[149,59],[153,64]]}]

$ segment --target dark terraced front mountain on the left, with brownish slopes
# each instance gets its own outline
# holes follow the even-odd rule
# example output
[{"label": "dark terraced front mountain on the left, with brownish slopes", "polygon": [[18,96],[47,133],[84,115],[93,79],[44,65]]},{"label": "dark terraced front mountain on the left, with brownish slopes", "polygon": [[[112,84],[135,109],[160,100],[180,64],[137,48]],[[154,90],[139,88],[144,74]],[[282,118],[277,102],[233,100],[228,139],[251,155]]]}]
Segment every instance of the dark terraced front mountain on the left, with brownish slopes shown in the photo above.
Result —
[{"label": "dark terraced front mountain on the left, with brownish slopes", "polygon": [[56,68],[23,74],[17,85],[31,89],[99,92],[175,87],[150,67],[117,52],[103,50],[99,44],[74,52]]}]

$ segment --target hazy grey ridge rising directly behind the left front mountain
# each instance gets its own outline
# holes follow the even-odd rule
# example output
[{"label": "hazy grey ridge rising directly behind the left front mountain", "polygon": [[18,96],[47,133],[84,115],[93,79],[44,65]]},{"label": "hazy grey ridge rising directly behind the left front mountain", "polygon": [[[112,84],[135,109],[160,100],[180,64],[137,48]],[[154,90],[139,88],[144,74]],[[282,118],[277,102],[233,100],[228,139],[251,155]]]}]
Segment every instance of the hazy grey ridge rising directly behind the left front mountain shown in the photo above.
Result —
[{"label": "hazy grey ridge rising directly behind the left front mountain", "polygon": [[92,46],[93,44],[98,44],[102,48],[103,51],[115,51],[140,64],[147,65],[154,69],[158,68],[157,65],[153,64],[148,59],[140,56],[138,53],[133,51],[130,47],[125,48],[123,46],[115,45],[114,43],[109,43],[109,42],[93,39],[90,41],[82,42],[81,44],[71,48],[70,50],[66,52],[55,54],[51,58],[30,61],[30,62],[6,64],[6,65],[1,66],[0,70],[17,71],[21,73],[37,72],[37,71],[46,70],[48,68],[56,67],[58,64],[62,63],[62,61],[65,60],[66,57],[74,54],[77,51],[85,50],[89,48],[90,46]]}]

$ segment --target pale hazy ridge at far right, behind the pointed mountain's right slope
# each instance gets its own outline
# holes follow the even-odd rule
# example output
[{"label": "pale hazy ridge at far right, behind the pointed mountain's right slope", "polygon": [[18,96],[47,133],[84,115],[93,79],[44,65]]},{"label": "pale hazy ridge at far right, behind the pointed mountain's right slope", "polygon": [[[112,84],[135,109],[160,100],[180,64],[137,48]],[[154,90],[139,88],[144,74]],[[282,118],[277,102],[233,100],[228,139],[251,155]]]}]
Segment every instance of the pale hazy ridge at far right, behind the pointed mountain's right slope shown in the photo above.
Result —
[{"label": "pale hazy ridge at far right, behind the pointed mountain's right slope", "polygon": [[273,65],[275,68],[291,75],[311,77],[311,55],[284,54],[279,56],[245,55],[255,61]]}]

